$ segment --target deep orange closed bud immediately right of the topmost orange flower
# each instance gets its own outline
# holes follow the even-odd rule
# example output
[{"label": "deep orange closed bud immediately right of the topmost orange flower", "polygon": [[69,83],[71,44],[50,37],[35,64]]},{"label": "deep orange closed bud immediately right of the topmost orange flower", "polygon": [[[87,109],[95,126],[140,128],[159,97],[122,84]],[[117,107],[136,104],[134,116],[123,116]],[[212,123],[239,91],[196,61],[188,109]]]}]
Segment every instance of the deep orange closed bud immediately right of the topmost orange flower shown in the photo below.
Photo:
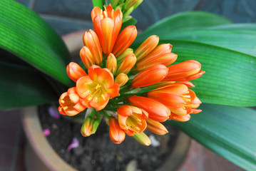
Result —
[{"label": "deep orange closed bud immediately right of the topmost orange flower", "polygon": [[115,56],[121,55],[121,53],[123,53],[123,51],[125,51],[131,45],[131,43],[133,43],[136,36],[137,29],[135,26],[127,26],[124,28],[116,40],[112,53]]}]

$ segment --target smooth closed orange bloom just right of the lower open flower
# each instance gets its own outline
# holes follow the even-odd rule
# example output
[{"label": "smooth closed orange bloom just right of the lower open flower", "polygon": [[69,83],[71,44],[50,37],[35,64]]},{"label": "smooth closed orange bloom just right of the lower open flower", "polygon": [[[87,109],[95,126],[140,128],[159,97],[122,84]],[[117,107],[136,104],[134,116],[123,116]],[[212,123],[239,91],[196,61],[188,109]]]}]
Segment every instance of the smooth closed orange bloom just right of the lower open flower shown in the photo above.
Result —
[{"label": "smooth closed orange bloom just right of the lower open flower", "polygon": [[151,98],[133,95],[128,98],[131,105],[148,112],[148,117],[158,122],[164,122],[169,118],[170,110],[165,105]]}]

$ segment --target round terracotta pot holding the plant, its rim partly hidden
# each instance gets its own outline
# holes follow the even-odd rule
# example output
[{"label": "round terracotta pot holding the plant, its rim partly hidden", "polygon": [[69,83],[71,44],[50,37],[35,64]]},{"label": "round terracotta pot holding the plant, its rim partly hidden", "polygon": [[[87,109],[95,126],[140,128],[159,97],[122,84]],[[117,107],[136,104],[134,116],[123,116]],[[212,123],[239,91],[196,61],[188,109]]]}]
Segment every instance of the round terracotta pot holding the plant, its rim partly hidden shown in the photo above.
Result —
[{"label": "round terracotta pot holding the plant, its rim partly hidden", "polygon": [[[63,36],[63,40],[68,46],[69,51],[75,52],[80,50],[83,46],[81,40],[83,33],[84,31],[79,31]],[[25,150],[26,169],[28,171],[75,171],[76,169],[68,165],[68,163],[58,156],[48,143],[48,140],[46,140],[39,122],[37,108],[24,108],[22,111],[24,113],[24,132],[28,140]],[[190,141],[191,139],[188,135],[180,131],[173,152],[157,171],[176,170],[182,164],[188,152]]]}]

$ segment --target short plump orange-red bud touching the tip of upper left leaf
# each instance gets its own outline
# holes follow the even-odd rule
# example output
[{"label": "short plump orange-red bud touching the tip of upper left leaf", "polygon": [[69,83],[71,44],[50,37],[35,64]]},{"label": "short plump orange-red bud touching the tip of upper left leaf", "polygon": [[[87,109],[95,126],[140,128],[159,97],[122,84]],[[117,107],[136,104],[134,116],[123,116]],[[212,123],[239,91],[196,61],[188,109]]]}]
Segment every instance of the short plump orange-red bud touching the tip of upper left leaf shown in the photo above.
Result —
[{"label": "short plump orange-red bud touching the tip of upper left leaf", "polygon": [[83,71],[81,66],[73,62],[69,63],[66,67],[66,73],[68,74],[68,77],[71,78],[71,80],[74,82],[83,76],[87,76],[86,71]]}]

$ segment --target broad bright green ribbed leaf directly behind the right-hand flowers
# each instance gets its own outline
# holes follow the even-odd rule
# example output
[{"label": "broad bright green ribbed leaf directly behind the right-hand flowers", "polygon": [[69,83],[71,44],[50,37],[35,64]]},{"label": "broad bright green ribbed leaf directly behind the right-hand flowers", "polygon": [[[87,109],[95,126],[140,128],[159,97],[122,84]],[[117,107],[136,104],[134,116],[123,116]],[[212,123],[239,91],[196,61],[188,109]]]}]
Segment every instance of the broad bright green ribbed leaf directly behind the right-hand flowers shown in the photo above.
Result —
[{"label": "broad bright green ribbed leaf directly behind the right-hand flowers", "polygon": [[196,60],[205,74],[192,81],[204,103],[256,105],[256,58],[227,48],[191,41],[168,40],[177,62]]}]

